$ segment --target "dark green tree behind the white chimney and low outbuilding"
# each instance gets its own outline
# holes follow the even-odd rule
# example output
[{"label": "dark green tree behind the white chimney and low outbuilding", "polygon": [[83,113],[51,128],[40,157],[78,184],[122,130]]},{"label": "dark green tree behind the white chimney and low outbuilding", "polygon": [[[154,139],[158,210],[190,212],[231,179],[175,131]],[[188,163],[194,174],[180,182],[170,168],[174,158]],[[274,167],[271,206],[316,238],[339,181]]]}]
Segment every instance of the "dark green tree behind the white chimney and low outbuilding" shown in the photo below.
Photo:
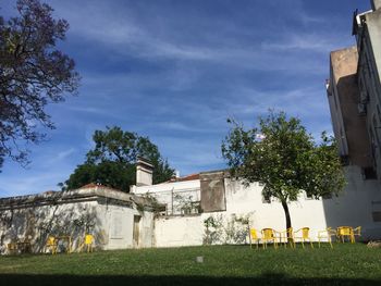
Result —
[{"label": "dark green tree behind the white chimney and low outbuilding", "polygon": [[93,136],[95,148],[86,154],[84,164],[78,165],[65,184],[67,189],[79,188],[89,183],[100,183],[123,191],[136,183],[138,157],[153,165],[153,184],[169,181],[174,170],[162,159],[159,149],[147,137],[123,132],[120,127],[96,130]]}]

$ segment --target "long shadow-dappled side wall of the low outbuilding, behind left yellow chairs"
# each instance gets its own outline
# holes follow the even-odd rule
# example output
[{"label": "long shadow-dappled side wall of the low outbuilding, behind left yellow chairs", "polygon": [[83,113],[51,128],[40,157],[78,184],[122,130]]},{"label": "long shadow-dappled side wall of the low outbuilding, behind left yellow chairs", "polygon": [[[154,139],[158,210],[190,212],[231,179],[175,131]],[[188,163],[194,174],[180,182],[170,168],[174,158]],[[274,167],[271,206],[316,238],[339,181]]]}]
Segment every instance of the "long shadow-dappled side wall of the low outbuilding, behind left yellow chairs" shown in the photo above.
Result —
[{"label": "long shadow-dappled side wall of the low outbuilding, behind left yellow chairs", "polygon": [[11,241],[29,240],[33,251],[40,252],[49,235],[72,236],[73,249],[83,243],[86,233],[102,241],[101,215],[97,206],[97,201],[87,201],[3,210],[0,212],[2,250]]}]

